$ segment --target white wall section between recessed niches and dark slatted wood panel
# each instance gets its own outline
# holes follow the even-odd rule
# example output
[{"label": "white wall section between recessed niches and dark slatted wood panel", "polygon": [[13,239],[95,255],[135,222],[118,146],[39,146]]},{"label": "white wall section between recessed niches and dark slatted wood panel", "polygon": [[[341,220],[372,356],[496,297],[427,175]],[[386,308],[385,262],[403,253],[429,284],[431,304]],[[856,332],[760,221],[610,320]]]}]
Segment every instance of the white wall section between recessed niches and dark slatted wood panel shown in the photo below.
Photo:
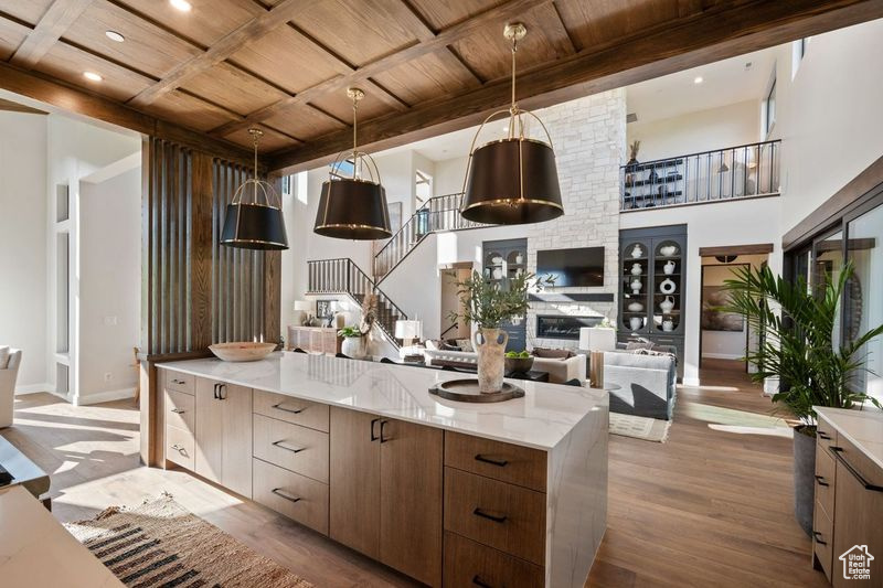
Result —
[{"label": "white wall section between recessed niches and dark slatted wood panel", "polygon": [[131,396],[141,308],[140,164],[99,183],[81,182],[79,258],[76,402]]}]

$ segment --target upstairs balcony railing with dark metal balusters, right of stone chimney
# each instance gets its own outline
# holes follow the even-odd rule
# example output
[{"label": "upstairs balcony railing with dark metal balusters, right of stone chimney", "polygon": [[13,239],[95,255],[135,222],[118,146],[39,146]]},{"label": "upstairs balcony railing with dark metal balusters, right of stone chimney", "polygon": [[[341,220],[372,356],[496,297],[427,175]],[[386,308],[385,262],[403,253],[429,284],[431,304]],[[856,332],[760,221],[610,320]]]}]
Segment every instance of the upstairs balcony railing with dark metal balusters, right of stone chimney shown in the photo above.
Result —
[{"label": "upstairs balcony railing with dark metal balusters, right of stone chimney", "polygon": [[781,141],[727,147],[619,168],[621,211],[779,193]]}]

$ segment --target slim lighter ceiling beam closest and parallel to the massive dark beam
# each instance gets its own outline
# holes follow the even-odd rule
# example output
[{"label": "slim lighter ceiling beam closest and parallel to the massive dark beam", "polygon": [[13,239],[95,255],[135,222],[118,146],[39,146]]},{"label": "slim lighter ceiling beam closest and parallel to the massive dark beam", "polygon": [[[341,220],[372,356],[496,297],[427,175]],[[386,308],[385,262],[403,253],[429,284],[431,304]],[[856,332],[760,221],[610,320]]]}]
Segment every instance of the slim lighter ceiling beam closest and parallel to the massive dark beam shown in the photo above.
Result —
[{"label": "slim lighter ceiling beam closest and parallel to the massive dark beam", "polygon": [[[243,121],[228,122],[217,127],[216,129],[212,129],[211,135],[215,137],[223,137],[225,135],[230,135],[231,132],[242,130],[251,125],[254,125],[255,122],[266,120],[267,118],[270,118],[272,116],[291,106],[308,104],[310,100],[325,94],[344,89],[349,86],[360,83],[363,79],[368,79],[371,76],[377,75],[412,60],[428,55],[429,53],[440,49],[445,49],[447,45],[456,43],[461,39],[466,39],[474,32],[488,24],[499,24],[509,19],[518,18],[520,14],[523,14],[524,11],[546,2],[551,2],[551,0],[510,0],[501,6],[490,8],[485,12],[480,12],[470,19],[440,31],[438,34],[432,38],[427,38],[426,41],[421,41],[403,49],[402,51],[391,53],[385,57],[381,57],[368,63],[351,74],[326,79],[325,82],[309,87],[296,94],[295,96],[291,96],[290,98],[283,98],[281,100],[270,104],[269,106],[255,110],[254,113],[247,115]],[[398,116],[402,114],[406,113],[401,113]]]}]

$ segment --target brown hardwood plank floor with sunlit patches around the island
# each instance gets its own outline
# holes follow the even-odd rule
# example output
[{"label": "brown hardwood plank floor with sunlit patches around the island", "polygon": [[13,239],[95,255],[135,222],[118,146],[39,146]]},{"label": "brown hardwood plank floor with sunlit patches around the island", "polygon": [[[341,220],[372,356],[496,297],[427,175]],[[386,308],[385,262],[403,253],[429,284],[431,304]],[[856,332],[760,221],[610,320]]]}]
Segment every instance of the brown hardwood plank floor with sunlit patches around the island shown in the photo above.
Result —
[{"label": "brown hardwood plank floor with sunlit patches around the island", "polygon": [[[826,586],[794,520],[791,440],[747,375],[703,362],[680,387],[668,442],[611,436],[608,528],[587,586]],[[138,462],[130,402],[15,400],[0,431],[52,475],[53,514],[94,516],[167,491],[316,586],[412,586],[395,571],[181,470]]]}]

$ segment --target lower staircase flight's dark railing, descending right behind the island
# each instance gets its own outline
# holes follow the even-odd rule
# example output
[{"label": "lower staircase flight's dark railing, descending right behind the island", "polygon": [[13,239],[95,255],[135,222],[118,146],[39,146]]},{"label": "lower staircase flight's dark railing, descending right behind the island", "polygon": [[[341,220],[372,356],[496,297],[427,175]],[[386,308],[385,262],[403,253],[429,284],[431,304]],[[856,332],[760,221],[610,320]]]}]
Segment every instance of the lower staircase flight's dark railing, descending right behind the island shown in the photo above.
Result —
[{"label": "lower staircase flight's dark railing, descending right behind the island", "polygon": [[393,345],[400,346],[395,339],[395,321],[407,320],[407,314],[352,259],[338,257],[307,261],[307,293],[310,295],[345,295],[360,306],[368,295],[376,295],[376,324]]}]

